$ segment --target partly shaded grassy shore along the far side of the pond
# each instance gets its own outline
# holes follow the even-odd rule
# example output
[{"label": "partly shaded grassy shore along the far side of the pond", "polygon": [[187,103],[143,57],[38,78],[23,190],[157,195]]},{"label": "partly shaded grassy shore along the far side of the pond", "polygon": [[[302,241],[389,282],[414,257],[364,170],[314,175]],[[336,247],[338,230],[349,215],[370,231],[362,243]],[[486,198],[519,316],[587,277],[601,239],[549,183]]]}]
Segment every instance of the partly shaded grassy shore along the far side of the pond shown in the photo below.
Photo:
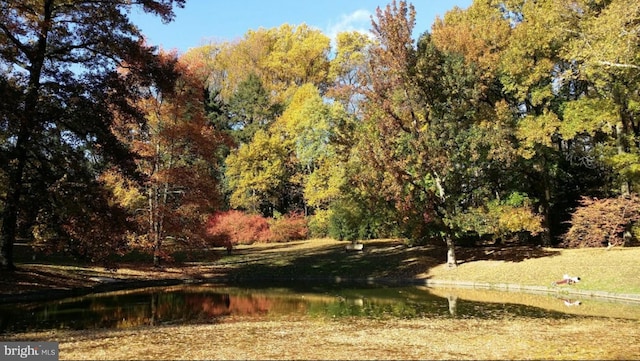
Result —
[{"label": "partly shaded grassy shore along the far side of the pond", "polygon": [[[363,243],[360,252],[345,252],[344,242],[327,239],[246,245],[232,256],[213,252],[161,268],[144,262],[123,262],[116,270],[25,262],[2,274],[0,304],[204,283],[450,287],[640,302],[640,248],[460,248],[461,263],[449,269],[432,246],[408,247],[394,239]],[[580,275],[582,281],[551,285],[566,273]]]}]

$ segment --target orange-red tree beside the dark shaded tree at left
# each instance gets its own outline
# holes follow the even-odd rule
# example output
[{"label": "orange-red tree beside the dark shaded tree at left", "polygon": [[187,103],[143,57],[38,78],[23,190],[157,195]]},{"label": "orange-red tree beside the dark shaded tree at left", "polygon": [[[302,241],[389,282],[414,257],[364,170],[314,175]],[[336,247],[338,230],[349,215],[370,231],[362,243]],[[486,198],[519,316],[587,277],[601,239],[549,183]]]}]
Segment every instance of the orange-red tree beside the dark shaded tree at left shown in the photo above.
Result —
[{"label": "orange-red tree beside the dark shaded tree at left", "polygon": [[226,141],[207,118],[198,67],[175,54],[160,55],[162,61],[174,63],[180,74],[173,87],[141,89],[146,96],[137,105],[144,110],[146,122],[114,126],[114,132],[138,155],[137,169],[146,179],[138,190],[139,201],[130,210],[136,212],[144,230],[134,243],[152,250],[156,266],[168,239],[189,246],[206,242],[207,217],[220,202],[217,148]]}]

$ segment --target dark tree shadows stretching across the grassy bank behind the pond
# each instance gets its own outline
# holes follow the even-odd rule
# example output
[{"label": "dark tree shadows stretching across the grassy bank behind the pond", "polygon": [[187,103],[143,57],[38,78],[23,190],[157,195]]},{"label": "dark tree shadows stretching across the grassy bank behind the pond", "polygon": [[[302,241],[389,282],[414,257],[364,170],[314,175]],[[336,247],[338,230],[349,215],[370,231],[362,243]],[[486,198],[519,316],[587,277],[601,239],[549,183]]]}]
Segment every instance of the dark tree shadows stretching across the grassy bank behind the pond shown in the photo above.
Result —
[{"label": "dark tree shadows stretching across the grassy bank behind the pond", "polygon": [[[137,270],[137,280],[189,278],[222,282],[374,282],[402,283],[416,280],[446,260],[446,249],[440,246],[409,247],[401,240],[365,241],[363,251],[346,251],[348,242],[300,241],[270,245],[243,246],[227,255],[224,249],[209,249],[190,254],[176,254],[169,268],[154,269],[148,255],[123,257],[118,266]],[[486,246],[457,249],[459,264],[482,260],[521,262],[530,258],[551,257],[559,251],[526,245]],[[26,258],[26,257],[24,257]],[[39,259],[40,264],[47,264]],[[44,261],[44,262],[43,262]],[[58,262],[57,258],[54,264]],[[124,262],[123,262],[124,261]],[[31,262],[25,262],[26,264]],[[25,264],[25,266],[26,266]],[[15,279],[0,282],[6,290],[44,290],[90,285],[94,271],[60,271],[50,274],[46,267],[33,265],[18,272]],[[66,273],[65,273],[66,272]],[[115,271],[114,271],[115,272]],[[117,274],[117,273],[116,273]],[[115,276],[116,274],[113,274]],[[17,276],[17,277],[16,277]],[[106,277],[112,277],[105,270]],[[125,276],[126,278],[126,276]],[[29,284],[30,285],[26,285]],[[20,286],[22,285],[22,286]],[[48,285],[48,287],[47,287]]]}]

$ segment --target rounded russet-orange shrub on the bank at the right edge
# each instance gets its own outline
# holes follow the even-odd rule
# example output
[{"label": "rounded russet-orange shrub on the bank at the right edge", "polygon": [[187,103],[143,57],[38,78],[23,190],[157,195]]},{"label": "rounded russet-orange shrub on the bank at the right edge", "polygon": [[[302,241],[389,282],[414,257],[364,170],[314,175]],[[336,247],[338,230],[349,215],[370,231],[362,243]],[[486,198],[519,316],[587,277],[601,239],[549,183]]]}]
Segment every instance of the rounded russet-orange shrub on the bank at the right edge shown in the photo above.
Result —
[{"label": "rounded russet-orange shrub on the bank at the right edge", "polygon": [[571,216],[571,228],[563,236],[567,247],[624,245],[623,234],[640,221],[638,195],[592,199],[583,197]]}]

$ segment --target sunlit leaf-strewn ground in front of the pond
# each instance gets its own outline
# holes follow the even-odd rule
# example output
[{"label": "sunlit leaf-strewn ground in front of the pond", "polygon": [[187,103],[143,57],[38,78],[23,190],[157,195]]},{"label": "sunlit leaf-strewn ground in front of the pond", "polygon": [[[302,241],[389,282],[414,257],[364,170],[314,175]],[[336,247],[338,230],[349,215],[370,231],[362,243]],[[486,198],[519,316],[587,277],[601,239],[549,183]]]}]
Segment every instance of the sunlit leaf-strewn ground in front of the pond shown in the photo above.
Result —
[{"label": "sunlit leaf-strewn ground in front of the pond", "polygon": [[240,319],[8,340],[60,342],[61,360],[630,360],[640,355],[638,326],[611,319]]}]

